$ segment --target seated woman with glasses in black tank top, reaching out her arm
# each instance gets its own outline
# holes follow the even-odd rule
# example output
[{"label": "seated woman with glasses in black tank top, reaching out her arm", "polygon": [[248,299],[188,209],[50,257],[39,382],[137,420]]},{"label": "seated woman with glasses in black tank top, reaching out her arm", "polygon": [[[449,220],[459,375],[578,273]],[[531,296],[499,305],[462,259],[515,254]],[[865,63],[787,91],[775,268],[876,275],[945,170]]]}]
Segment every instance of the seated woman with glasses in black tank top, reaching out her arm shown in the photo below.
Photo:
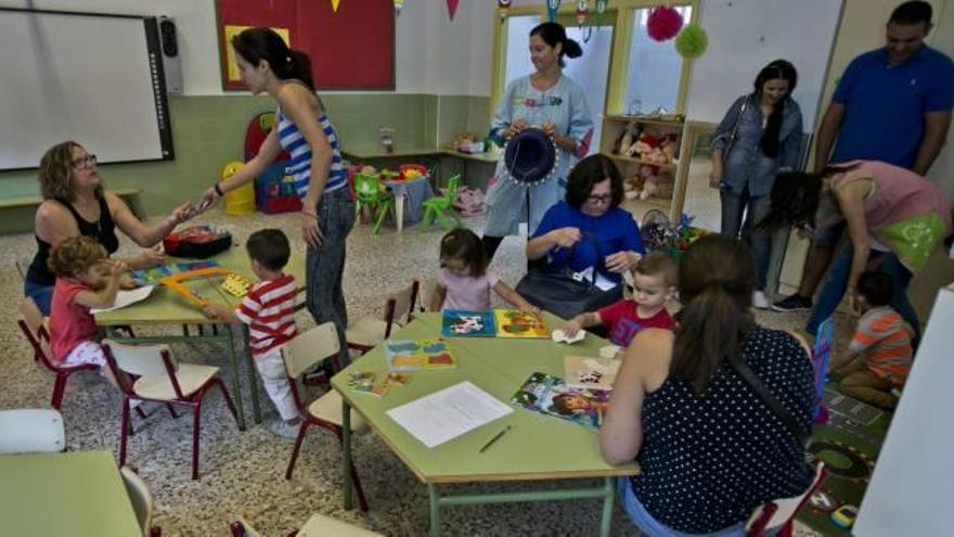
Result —
[{"label": "seated woman with glasses in black tank top, reaching out her arm", "polygon": [[70,236],[91,236],[112,255],[119,248],[118,227],[133,242],[149,248],[123,261],[131,269],[150,268],[164,263],[162,252],[153,246],[191,216],[186,203],[156,223],[143,223],[119,196],[103,190],[96,156],[73,141],[59,143],[43,154],[39,180],[43,203],[34,219],[37,254],[26,273],[24,294],[37,303],[43,315],[50,315],[56,280],[47,259],[59,242]]}]

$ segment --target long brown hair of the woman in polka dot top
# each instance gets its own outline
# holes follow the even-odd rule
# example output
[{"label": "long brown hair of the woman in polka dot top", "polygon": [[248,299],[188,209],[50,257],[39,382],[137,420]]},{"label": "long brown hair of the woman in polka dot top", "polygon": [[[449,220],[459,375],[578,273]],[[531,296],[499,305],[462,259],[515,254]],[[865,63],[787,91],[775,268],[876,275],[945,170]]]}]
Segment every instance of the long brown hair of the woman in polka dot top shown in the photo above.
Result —
[{"label": "long brown hair of the woman in polka dot top", "polygon": [[756,258],[740,241],[706,235],[685,252],[679,267],[679,314],[669,374],[702,395],[729,361],[742,359],[745,340],[756,328],[749,309],[756,284]]}]

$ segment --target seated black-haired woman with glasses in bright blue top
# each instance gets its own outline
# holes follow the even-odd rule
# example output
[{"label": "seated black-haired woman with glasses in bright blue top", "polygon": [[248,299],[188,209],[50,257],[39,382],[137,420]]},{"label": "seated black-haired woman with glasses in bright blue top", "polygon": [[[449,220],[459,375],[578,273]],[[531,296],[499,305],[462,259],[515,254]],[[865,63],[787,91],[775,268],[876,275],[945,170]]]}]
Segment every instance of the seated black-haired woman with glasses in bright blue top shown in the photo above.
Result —
[{"label": "seated black-haired woman with glasses in bright blue top", "polygon": [[605,285],[618,284],[646,252],[622,199],[616,164],[601,154],[583,158],[570,171],[566,201],[550,207],[527,242],[527,258],[577,272],[592,268]]}]

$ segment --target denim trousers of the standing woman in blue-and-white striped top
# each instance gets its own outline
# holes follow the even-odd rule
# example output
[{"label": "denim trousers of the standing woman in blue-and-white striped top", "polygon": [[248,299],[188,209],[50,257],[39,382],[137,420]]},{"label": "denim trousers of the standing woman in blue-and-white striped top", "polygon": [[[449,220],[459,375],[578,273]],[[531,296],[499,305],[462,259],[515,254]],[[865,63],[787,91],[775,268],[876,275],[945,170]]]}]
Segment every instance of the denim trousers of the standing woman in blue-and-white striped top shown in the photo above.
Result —
[{"label": "denim trousers of the standing woman in blue-and-white striped top", "polygon": [[345,367],[350,359],[345,337],[348,310],[341,279],[345,274],[345,246],[356,218],[354,202],[347,187],[323,193],[317,213],[324,241],[318,247],[308,246],[305,258],[306,305],[315,323],[335,323],[340,343],[338,360]]}]

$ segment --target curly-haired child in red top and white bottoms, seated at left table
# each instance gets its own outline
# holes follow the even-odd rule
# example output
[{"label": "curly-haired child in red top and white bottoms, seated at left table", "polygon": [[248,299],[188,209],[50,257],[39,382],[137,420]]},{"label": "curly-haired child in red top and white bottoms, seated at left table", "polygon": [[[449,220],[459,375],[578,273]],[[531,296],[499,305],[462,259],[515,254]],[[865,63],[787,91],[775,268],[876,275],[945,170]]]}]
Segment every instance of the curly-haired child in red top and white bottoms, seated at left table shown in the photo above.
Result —
[{"label": "curly-haired child in red top and white bottoms, seated at left table", "polygon": [[90,309],[113,306],[125,264],[109,259],[106,248],[83,235],[57,243],[47,263],[56,274],[50,306],[53,360],[67,366],[94,363],[105,373],[106,357]]}]

